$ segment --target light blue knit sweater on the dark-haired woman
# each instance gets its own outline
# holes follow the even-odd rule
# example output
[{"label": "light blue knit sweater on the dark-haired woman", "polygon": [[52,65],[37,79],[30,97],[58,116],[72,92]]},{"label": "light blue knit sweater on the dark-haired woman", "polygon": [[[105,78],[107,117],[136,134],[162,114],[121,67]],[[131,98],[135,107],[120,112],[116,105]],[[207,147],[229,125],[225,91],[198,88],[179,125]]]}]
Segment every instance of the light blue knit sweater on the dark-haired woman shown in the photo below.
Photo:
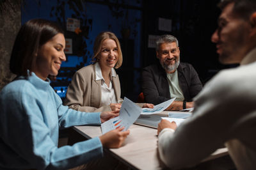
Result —
[{"label": "light blue knit sweater on the dark-haired woman", "polygon": [[100,112],[79,112],[31,73],[0,93],[0,169],[68,169],[102,157],[99,137],[58,148],[59,128],[100,125]]}]

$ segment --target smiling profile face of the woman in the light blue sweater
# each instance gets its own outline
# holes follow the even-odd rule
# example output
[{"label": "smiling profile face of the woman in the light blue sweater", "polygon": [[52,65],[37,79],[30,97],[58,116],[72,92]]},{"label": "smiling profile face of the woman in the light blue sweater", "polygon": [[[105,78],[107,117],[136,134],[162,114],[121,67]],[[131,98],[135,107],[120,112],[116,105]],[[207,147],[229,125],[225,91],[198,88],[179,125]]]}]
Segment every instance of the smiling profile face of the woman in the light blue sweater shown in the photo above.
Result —
[{"label": "smiling profile face of the woman in the light blue sweater", "polygon": [[66,61],[64,49],[64,35],[58,33],[38,49],[31,71],[44,81],[48,75],[58,75],[61,62]]}]

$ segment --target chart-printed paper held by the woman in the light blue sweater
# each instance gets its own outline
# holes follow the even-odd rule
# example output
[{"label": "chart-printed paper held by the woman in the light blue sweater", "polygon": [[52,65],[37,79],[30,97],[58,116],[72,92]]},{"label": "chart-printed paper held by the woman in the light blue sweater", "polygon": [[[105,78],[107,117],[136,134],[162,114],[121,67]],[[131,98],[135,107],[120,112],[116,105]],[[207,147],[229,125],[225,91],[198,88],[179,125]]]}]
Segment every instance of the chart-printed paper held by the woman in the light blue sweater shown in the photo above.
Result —
[{"label": "chart-printed paper held by the woman in the light blue sweater", "polygon": [[132,123],[138,119],[141,112],[141,107],[125,97],[119,116],[101,124],[102,134],[119,127],[125,127],[124,130],[128,130]]}]

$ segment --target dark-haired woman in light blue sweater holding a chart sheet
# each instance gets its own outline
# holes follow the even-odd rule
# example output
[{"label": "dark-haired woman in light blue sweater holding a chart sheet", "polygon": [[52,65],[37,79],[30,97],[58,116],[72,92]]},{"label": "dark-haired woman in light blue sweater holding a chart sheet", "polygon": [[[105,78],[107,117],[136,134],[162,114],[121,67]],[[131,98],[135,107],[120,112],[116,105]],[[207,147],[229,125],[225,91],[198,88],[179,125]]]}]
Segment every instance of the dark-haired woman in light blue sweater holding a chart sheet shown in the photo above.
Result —
[{"label": "dark-haired woman in light blue sweater holding a chart sheet", "polygon": [[29,20],[13,45],[10,70],[15,80],[0,93],[0,169],[68,169],[102,157],[102,148],[118,148],[123,128],[73,146],[58,148],[60,128],[100,125],[116,112],[79,112],[63,106],[50,86],[66,60],[65,38],[56,24]]}]

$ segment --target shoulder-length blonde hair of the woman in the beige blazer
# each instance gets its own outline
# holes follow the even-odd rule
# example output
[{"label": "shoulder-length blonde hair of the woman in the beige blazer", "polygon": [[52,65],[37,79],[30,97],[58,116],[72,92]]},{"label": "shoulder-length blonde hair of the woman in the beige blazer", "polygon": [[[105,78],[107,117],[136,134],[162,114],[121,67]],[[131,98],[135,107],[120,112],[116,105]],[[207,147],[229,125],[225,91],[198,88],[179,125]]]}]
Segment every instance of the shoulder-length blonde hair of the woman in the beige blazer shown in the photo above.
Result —
[{"label": "shoulder-length blonde hair of the woman in the beige blazer", "polygon": [[122,55],[121,46],[120,46],[120,43],[119,43],[118,38],[116,37],[116,35],[114,33],[108,32],[108,31],[100,33],[95,38],[95,42],[93,44],[92,62],[95,63],[97,61],[97,56],[99,56],[99,53],[101,51],[102,43],[106,39],[112,39],[116,42],[117,52],[118,52],[118,60],[116,62],[115,68],[119,68],[123,63],[123,55]]}]

